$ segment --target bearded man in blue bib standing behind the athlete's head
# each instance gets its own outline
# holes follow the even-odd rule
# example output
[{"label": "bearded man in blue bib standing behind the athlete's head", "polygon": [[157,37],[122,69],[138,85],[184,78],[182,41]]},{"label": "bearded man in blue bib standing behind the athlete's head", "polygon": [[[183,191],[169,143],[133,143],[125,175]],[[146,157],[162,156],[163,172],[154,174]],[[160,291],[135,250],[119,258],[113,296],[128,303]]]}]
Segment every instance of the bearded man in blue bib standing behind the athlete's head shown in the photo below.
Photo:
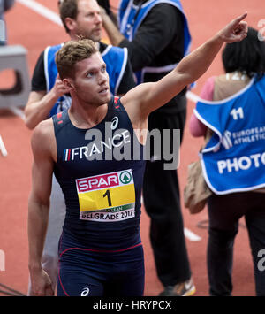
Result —
[{"label": "bearded man in blue bib standing behind the athlete's head", "polygon": [[[123,95],[135,86],[127,50],[107,45],[102,40],[102,18],[95,0],[64,0],[59,3],[60,17],[72,40],[79,36],[91,39],[101,52],[110,76],[112,95]],[[32,91],[25,108],[26,125],[32,129],[42,120],[67,110],[72,98],[57,73],[55,56],[63,44],[47,47],[34,68]],[[57,245],[65,216],[64,195],[53,177],[50,199],[49,228],[43,250],[42,265],[53,283],[57,282]],[[30,284],[29,284],[30,294]]]}]

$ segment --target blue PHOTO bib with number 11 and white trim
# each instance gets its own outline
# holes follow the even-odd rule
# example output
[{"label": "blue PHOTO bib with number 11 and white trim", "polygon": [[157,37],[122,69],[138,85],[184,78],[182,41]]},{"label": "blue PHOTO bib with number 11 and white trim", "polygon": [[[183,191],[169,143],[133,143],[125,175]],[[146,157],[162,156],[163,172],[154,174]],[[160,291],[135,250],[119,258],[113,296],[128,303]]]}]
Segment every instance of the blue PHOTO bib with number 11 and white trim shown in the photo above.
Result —
[{"label": "blue PHOTO bib with number 11 and white trim", "polygon": [[200,154],[209,188],[225,195],[265,187],[265,76],[222,101],[200,100],[194,113],[214,132]]}]

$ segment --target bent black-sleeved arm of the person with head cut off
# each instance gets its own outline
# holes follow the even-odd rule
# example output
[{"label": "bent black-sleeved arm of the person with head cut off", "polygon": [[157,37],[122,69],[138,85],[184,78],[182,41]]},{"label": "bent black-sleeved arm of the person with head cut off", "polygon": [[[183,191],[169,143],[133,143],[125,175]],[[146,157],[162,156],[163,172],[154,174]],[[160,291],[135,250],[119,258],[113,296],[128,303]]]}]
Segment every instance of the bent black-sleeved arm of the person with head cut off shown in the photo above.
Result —
[{"label": "bent black-sleeved arm of the person with head cut off", "polygon": [[170,4],[155,5],[140,24],[132,42],[125,39],[104,12],[102,22],[110,42],[115,46],[126,47],[133,71],[139,71],[149,65],[178,34],[178,27],[182,27],[182,16]]}]

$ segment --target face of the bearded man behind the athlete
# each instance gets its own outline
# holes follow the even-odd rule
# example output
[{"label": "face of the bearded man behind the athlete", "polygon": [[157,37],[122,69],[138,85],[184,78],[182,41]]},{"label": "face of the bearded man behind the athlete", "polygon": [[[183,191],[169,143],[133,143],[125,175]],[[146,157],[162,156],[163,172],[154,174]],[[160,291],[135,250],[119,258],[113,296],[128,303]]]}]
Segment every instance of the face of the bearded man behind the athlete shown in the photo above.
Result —
[{"label": "face of the bearded man behind the athlete", "polygon": [[102,39],[102,17],[96,0],[79,0],[78,15],[72,33],[94,42]]}]

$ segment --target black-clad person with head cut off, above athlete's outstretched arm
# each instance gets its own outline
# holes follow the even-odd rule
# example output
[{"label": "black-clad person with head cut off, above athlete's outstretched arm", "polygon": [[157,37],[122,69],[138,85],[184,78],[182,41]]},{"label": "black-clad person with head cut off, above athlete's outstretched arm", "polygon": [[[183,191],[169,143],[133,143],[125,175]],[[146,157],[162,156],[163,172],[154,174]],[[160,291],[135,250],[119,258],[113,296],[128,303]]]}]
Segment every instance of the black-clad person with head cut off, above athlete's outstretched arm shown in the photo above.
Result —
[{"label": "black-clad person with head cut off, above athlete's outstretched arm", "polygon": [[[123,0],[117,16],[119,29],[104,10],[102,19],[110,42],[128,49],[138,84],[162,79],[189,52],[191,35],[178,0]],[[174,142],[173,129],[180,130],[182,141],[185,124],[186,88],[148,118],[150,134],[154,129],[161,133],[170,129],[170,145]],[[143,198],[151,220],[156,272],[164,287],[160,295],[193,295],[195,286],[186,249],[177,166],[165,170],[165,160],[159,160],[155,149],[151,156],[144,176]]]}]

